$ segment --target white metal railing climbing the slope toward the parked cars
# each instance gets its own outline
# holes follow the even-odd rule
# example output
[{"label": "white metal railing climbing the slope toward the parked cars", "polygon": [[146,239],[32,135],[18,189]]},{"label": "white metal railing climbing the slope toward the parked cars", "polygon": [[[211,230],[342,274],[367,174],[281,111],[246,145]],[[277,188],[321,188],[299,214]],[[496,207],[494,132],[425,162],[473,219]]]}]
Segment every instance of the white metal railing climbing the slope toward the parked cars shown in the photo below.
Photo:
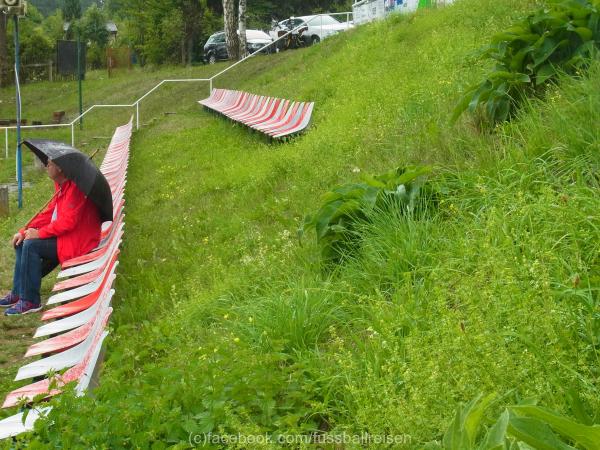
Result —
[{"label": "white metal railing climbing the slope toward the parked cars", "polygon": [[[346,16],[346,22],[345,22],[346,27],[345,27],[345,29],[348,29],[348,28],[350,28],[350,27],[353,26],[352,23],[350,22],[350,17],[352,16],[352,12],[316,14],[316,15],[314,15],[314,17],[312,17],[311,19],[309,19],[306,23],[298,25],[297,27],[289,30],[285,34],[279,36],[277,39],[274,39],[273,42],[265,44],[264,46],[262,46],[261,48],[259,48],[254,53],[250,53],[249,55],[244,56],[244,58],[240,59],[239,61],[236,61],[235,63],[231,64],[230,66],[227,66],[225,69],[221,70],[220,72],[216,73],[215,75],[213,75],[210,78],[184,78],[184,79],[167,79],[167,80],[162,80],[160,83],[158,83],[156,86],[154,86],[152,89],[150,89],[148,92],[146,92],[144,95],[142,95],[140,98],[138,98],[135,102],[133,102],[131,104],[115,104],[115,105],[102,105],[102,104],[98,104],[98,105],[92,105],[88,109],[86,109],[85,111],[83,111],[80,115],[78,115],[76,118],[74,118],[71,122],[68,122],[68,123],[45,124],[45,125],[21,125],[20,128],[21,129],[44,129],[44,128],[66,128],[66,127],[71,127],[71,145],[75,146],[75,124],[77,123],[77,121],[81,120],[86,114],[92,112],[96,108],[135,108],[135,126],[136,126],[136,129],[139,130],[139,128],[140,128],[140,103],[142,102],[142,100],[144,100],[146,97],[148,97],[154,91],[156,91],[162,85],[164,85],[166,83],[186,83],[186,82],[200,82],[200,81],[205,81],[205,82],[209,83],[209,92],[212,92],[212,90],[213,90],[213,81],[215,79],[217,79],[221,75],[225,74],[226,72],[230,71],[231,69],[233,69],[234,67],[238,66],[239,64],[243,63],[244,61],[252,58],[253,56],[256,56],[258,53],[260,53],[262,50],[265,50],[267,47],[276,48],[276,44],[277,44],[278,41],[286,38],[289,34],[294,33],[296,31],[298,31],[299,29],[305,27],[307,24],[310,24],[313,21],[319,21],[320,25],[317,25],[317,26],[320,26],[320,31],[321,31],[320,35],[323,36],[323,17],[324,16]],[[4,147],[5,147],[5,157],[6,158],[8,158],[8,148],[9,148],[9,146],[8,146],[8,130],[15,130],[16,128],[17,128],[16,125],[15,126],[2,126],[2,127],[0,127],[0,129],[4,129]]]}]

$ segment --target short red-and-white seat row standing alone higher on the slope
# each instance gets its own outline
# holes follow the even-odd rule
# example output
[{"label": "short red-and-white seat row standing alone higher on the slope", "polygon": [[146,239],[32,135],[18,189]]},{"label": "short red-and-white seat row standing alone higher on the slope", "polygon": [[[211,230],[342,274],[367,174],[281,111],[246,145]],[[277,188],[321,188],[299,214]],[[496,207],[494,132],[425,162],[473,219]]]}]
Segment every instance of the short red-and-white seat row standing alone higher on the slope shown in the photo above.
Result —
[{"label": "short red-and-white seat row standing alone higher on the slope", "polygon": [[213,89],[208,98],[198,103],[277,139],[304,130],[315,105],[228,89]]}]

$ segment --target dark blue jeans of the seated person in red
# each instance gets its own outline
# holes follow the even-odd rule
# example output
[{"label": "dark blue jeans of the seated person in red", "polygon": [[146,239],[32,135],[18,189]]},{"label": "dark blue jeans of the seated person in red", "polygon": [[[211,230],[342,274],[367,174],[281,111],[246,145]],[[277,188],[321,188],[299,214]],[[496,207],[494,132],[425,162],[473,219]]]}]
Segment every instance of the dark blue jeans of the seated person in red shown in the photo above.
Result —
[{"label": "dark blue jeans of the seated person in red", "polygon": [[42,278],[58,265],[56,238],[28,239],[15,248],[14,295],[39,305]]}]

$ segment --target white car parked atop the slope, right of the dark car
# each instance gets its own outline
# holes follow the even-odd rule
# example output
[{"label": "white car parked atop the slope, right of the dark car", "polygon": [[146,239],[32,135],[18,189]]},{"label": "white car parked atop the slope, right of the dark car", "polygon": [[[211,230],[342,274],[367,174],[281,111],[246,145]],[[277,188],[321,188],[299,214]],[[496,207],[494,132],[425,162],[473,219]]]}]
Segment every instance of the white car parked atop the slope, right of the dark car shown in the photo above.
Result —
[{"label": "white car parked atop the slope, right of the dark car", "polygon": [[305,45],[312,45],[353,26],[352,22],[340,22],[327,14],[290,17],[273,24],[269,35],[275,40],[283,34],[282,31],[288,32],[300,27],[298,31],[301,31]]}]

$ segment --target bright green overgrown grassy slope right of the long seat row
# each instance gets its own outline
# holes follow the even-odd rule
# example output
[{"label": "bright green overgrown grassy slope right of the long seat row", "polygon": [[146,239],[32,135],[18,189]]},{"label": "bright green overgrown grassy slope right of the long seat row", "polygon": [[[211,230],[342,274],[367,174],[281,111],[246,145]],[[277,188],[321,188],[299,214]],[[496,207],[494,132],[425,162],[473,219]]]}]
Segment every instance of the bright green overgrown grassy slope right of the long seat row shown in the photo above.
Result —
[{"label": "bright green overgrown grassy slope right of the long seat row", "polygon": [[[137,133],[102,384],[62,396],[41,441],[330,429],[418,447],[478,392],[501,395],[494,412],[533,396],[569,413],[573,388],[599,412],[581,306],[597,301],[598,69],[494,134],[447,125],[483,70],[466,57],[523,3],[394,18],[223,82],[315,100],[291,143],[200,112],[199,95]],[[438,167],[440,216],[374,218],[360,257],[323,280],[295,242],[302,216],[357,168],[408,163]]]}]

